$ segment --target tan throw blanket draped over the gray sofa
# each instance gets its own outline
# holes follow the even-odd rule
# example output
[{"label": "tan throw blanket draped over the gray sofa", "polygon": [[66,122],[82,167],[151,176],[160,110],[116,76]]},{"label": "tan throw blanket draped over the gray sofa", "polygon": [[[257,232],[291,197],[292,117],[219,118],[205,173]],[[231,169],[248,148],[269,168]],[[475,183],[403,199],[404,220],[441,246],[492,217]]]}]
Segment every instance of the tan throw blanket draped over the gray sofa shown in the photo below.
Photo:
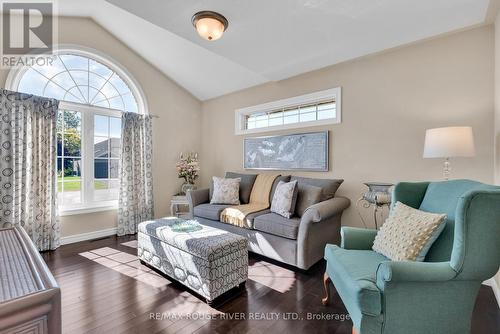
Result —
[{"label": "tan throw blanket draped over the gray sofa", "polygon": [[271,193],[273,182],[278,176],[275,174],[257,175],[252,192],[250,193],[250,202],[222,210],[220,221],[239,227],[251,228],[252,226],[250,226],[246,217],[251,213],[269,208],[269,194]]}]

